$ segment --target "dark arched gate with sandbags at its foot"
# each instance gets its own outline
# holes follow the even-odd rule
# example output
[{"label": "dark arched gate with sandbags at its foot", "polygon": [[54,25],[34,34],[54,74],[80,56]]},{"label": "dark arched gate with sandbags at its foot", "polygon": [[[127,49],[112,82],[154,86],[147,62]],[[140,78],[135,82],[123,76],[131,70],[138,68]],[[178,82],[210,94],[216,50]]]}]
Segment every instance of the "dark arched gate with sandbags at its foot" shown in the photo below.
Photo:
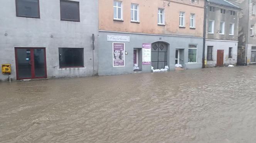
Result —
[{"label": "dark arched gate with sandbags at its foot", "polygon": [[167,66],[167,44],[163,42],[152,44],[151,62],[154,69],[164,69]]}]

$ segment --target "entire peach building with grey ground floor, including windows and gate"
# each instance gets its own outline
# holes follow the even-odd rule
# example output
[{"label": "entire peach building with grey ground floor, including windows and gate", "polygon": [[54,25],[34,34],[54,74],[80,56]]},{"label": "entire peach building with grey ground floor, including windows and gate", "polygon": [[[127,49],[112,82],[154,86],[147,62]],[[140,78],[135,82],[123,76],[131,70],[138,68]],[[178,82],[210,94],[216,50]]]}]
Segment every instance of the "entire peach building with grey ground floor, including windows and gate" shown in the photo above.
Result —
[{"label": "entire peach building with grey ground floor, including windows and gate", "polygon": [[99,75],[202,67],[204,0],[99,0]]}]

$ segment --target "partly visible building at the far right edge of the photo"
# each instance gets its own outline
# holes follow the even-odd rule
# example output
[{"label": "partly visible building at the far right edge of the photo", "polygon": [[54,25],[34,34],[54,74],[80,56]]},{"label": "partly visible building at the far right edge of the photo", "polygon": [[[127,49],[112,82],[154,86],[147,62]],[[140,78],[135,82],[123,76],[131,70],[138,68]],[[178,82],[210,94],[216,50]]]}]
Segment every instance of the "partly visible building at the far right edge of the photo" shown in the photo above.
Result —
[{"label": "partly visible building at the far right edge of the photo", "polygon": [[237,64],[256,64],[256,0],[229,0],[242,10],[239,14]]}]

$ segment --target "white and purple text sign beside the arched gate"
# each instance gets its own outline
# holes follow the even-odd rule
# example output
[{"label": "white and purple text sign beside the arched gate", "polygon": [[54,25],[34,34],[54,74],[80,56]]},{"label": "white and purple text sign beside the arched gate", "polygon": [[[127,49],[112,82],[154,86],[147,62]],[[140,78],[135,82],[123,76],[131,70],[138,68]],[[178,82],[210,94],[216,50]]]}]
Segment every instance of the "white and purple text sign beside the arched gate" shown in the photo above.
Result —
[{"label": "white and purple text sign beside the arched gate", "polygon": [[142,44],[142,64],[151,64],[151,44]]}]

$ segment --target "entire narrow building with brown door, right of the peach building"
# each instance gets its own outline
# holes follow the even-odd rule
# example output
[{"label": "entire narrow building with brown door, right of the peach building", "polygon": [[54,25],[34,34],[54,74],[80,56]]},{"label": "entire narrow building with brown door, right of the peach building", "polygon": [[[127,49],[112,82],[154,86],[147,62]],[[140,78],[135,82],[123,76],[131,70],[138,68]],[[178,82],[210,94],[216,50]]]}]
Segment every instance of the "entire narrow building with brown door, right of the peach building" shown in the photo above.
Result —
[{"label": "entire narrow building with brown door, right of the peach building", "polygon": [[205,66],[237,64],[239,10],[226,0],[208,0]]}]

